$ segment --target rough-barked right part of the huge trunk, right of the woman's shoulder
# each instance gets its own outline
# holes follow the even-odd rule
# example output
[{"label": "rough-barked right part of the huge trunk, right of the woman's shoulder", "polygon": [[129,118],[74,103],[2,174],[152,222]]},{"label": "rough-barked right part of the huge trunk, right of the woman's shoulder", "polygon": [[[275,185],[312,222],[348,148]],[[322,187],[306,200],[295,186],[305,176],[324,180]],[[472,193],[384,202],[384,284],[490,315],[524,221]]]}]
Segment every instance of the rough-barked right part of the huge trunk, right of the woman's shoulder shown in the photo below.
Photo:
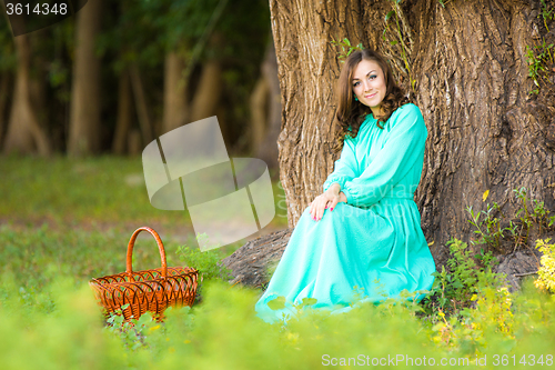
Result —
[{"label": "rough-barked right part of the huge trunk, right of the woman's shoulder", "polygon": [[528,93],[534,84],[526,46],[537,43],[531,31],[541,22],[538,8],[539,1],[414,7],[416,96],[430,131],[416,198],[440,262],[447,258],[443,244],[450,236],[473,234],[465,208],[485,210],[486,190],[487,202],[497,202],[505,214],[519,208],[512,190],[521,187],[555,210],[555,188],[548,187],[555,183],[555,147],[546,141],[555,132],[554,91]]}]

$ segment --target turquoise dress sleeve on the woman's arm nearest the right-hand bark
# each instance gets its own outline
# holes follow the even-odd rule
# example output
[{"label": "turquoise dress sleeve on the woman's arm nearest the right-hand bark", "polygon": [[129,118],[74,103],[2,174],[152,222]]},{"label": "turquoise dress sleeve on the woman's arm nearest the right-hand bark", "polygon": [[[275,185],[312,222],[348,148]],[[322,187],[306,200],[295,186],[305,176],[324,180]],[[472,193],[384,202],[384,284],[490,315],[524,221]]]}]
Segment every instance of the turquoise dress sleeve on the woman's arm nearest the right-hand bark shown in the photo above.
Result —
[{"label": "turquoise dress sleeve on the woman's arm nearest the right-hand bark", "polygon": [[391,131],[380,152],[360,177],[341,187],[349,204],[371,206],[379,202],[422,160],[427,129],[414,104],[405,104],[389,121]]}]

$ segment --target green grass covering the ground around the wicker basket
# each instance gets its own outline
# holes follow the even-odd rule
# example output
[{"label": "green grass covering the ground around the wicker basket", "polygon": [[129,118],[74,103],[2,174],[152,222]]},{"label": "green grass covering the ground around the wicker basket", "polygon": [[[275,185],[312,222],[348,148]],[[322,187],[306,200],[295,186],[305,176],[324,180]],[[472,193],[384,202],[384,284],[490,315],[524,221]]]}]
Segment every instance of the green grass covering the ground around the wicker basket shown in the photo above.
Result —
[{"label": "green grass covering the ground around the wicker basket", "polygon": [[[306,309],[285,327],[271,326],[254,314],[260,290],[221,280],[218,261],[240,243],[199,252],[185,248],[194,247],[192,234],[168,238],[164,246],[168,266],[203,270],[202,301],[168,310],[163,323],[147,314],[134,328],[107,327],[88,280],[124,271],[131,224],[172,228],[186,217],[150,206],[135,159],[2,158],[0,171],[2,369],[317,369],[335,361],[422,369],[424,358],[428,366],[432,358],[435,366],[442,358],[468,361],[451,367],[462,369],[524,369],[532,360],[534,368],[553,367],[555,296],[538,291],[532,279],[511,294],[492,273],[476,273],[472,302],[454,313],[434,300],[390,300],[336,316]],[[283,196],[276,183],[274,191]],[[467,269],[468,257],[457,256],[451,276]],[[154,241],[140,234],[134,270],[159,266]],[[455,292],[452,301],[463,296]]]}]

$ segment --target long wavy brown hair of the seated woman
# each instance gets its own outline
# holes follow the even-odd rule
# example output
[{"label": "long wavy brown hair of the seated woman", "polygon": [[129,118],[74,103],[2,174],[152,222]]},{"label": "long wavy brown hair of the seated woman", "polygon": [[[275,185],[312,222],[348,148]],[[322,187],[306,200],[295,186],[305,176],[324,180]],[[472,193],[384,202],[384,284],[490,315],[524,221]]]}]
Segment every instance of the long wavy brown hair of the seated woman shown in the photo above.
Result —
[{"label": "long wavy brown hair of the seated woman", "polygon": [[[351,53],[341,69],[340,78],[337,80],[337,90],[335,93],[337,106],[335,118],[340,127],[340,130],[335,136],[335,146],[333,148],[335,152],[343,148],[343,141],[345,140],[346,134],[352,138],[356,138],[359,129],[361,128],[366,114],[372,114],[370,107],[354,100],[353,93],[353,72],[363,59],[376,62],[382,69],[385,78],[386,91],[385,98],[382,100],[381,104],[384,114],[375,117],[377,119],[376,126],[380,129],[383,129],[381,123],[385,123],[398,107],[410,102],[408,98],[405,97],[403,89],[398,87],[393,79],[390,66],[377,51],[363,49]],[[350,128],[351,130],[349,130]]]}]

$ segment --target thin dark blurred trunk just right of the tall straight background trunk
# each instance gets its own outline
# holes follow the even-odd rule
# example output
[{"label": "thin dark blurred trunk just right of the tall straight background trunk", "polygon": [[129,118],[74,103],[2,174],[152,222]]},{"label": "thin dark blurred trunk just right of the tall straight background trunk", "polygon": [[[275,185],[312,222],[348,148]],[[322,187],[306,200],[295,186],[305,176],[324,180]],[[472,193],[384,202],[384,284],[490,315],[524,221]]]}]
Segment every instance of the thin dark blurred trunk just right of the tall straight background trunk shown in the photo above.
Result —
[{"label": "thin dark blurred trunk just right of the tall straight background trunk", "polygon": [[112,142],[112,152],[118,156],[124,154],[127,150],[129,129],[131,128],[133,117],[132,104],[129,71],[123,69],[119,81],[118,119],[115,121],[115,133]]}]

